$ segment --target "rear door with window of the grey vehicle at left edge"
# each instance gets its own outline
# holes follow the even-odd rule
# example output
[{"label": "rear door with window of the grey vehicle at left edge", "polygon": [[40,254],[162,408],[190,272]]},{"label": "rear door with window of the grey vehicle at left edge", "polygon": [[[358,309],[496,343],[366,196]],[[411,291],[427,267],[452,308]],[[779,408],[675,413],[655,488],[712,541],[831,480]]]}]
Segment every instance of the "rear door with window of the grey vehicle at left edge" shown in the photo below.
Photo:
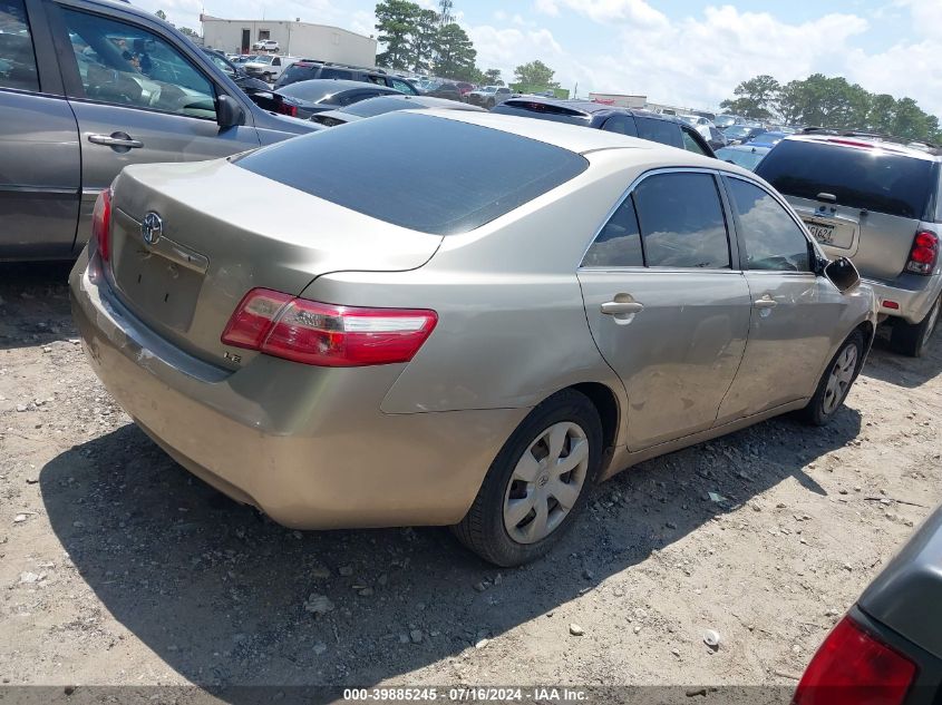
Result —
[{"label": "rear door with window of the grey vehicle at left edge", "polygon": [[0,0],[0,258],[67,257],[80,184],[76,119],[41,6]]}]

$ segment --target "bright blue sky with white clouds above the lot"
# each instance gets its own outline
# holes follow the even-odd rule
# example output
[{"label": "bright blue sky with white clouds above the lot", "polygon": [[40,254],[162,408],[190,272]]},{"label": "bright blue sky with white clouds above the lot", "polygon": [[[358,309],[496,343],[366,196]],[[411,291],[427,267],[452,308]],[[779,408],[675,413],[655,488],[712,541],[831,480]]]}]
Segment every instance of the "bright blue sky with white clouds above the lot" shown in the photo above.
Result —
[{"label": "bright blue sky with white clouds above the lot", "polygon": [[[200,31],[200,12],[376,35],[371,0],[133,0]],[[418,0],[436,7],[436,0]],[[942,0],[454,0],[482,69],[540,59],[564,88],[716,109],[742,80],[814,72],[942,116]]]}]

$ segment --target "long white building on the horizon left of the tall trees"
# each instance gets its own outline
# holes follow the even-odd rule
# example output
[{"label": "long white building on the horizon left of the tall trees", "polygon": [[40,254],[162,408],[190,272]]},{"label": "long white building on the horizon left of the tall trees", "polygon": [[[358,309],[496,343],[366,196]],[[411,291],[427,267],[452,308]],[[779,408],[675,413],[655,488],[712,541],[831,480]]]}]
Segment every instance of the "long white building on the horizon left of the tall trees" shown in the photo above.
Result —
[{"label": "long white building on the horizon left of the tall trees", "polygon": [[202,14],[203,45],[220,51],[250,53],[261,39],[274,39],[283,56],[376,65],[376,39],[339,27],[298,20],[224,20]]}]

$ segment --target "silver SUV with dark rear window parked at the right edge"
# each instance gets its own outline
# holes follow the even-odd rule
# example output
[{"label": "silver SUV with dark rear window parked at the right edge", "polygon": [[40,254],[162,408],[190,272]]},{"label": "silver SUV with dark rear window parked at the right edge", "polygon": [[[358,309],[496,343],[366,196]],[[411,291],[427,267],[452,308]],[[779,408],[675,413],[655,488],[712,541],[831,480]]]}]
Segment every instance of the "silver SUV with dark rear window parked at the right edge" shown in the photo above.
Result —
[{"label": "silver SUV with dark rear window parked at the right edge", "polygon": [[894,347],[915,358],[942,305],[940,170],[938,149],[854,133],[788,137],[756,168],[826,253],[854,262]]}]

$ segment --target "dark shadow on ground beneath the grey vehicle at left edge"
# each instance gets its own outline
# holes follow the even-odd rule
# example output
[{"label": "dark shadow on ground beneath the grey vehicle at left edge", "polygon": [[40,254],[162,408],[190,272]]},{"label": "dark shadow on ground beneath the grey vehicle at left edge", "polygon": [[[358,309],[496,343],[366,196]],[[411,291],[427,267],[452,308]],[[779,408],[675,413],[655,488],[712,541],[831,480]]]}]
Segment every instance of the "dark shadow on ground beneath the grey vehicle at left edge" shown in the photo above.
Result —
[{"label": "dark shadow on ground beneath the grey vehicle at left edge", "polygon": [[70,262],[0,263],[0,350],[75,337]]}]

